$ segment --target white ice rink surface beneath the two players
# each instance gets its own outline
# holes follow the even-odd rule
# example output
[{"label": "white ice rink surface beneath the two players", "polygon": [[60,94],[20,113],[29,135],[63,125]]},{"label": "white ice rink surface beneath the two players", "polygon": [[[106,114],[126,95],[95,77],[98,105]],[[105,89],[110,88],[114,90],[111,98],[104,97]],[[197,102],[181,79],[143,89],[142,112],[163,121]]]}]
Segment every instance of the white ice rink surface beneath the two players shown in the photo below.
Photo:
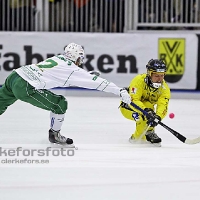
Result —
[{"label": "white ice rink surface beneath the two players", "polygon": [[[67,97],[61,133],[73,138],[74,156],[3,156],[2,200],[199,200],[200,144],[180,142],[157,127],[162,147],[130,144],[135,123],[115,97]],[[200,136],[200,101],[172,99],[165,124],[187,138]],[[0,116],[0,146],[45,149],[49,112],[17,101]],[[48,159],[49,163],[3,163]]]}]

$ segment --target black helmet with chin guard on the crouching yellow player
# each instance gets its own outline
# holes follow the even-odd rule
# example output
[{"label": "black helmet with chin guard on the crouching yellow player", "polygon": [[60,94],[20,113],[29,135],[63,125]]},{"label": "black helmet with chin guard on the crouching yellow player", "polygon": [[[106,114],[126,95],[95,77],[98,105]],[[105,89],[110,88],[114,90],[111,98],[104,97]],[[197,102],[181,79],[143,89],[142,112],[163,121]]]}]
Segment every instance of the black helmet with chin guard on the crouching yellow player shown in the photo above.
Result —
[{"label": "black helmet with chin guard on the crouching yellow player", "polygon": [[147,65],[147,76],[148,76],[148,85],[153,88],[159,88],[162,83],[153,83],[151,80],[152,73],[165,73],[167,70],[167,67],[165,63],[162,60],[158,59],[151,59]]}]

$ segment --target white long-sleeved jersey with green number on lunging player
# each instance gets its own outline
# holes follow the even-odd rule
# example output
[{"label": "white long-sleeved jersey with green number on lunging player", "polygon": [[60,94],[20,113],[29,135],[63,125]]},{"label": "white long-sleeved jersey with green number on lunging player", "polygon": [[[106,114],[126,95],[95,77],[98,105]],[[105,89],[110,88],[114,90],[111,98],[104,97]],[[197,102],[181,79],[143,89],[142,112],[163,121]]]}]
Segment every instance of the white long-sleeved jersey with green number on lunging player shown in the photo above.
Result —
[{"label": "white long-sleeved jersey with green number on lunging player", "polygon": [[91,75],[63,55],[53,56],[38,64],[22,66],[16,72],[36,89],[77,86],[120,95],[121,88],[114,83]]}]

